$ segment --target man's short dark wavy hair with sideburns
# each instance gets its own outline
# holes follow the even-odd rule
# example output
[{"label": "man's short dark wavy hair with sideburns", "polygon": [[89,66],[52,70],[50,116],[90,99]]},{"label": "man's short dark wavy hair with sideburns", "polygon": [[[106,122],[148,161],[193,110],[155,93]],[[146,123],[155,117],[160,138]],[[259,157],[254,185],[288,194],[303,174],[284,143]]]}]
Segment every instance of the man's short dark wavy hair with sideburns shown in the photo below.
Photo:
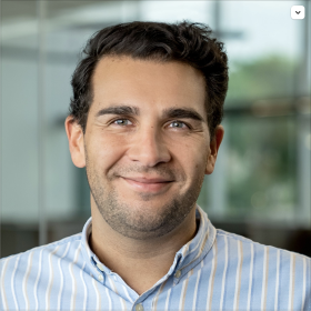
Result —
[{"label": "man's short dark wavy hair with sideburns", "polygon": [[182,21],[129,22],[104,28],[88,41],[72,76],[69,113],[83,132],[92,103],[92,76],[104,56],[129,56],[133,59],[180,61],[200,70],[205,79],[205,109],[211,138],[223,117],[228,90],[228,59],[223,43],[212,38],[211,29],[202,23]]}]

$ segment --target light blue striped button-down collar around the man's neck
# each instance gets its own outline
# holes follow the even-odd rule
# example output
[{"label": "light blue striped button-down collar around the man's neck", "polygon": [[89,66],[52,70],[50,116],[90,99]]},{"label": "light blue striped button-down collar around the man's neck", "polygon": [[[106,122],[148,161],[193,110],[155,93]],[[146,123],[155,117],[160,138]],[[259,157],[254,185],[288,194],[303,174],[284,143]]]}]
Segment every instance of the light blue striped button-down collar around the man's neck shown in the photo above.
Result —
[{"label": "light blue striped button-down collar around the man's neck", "polygon": [[[215,240],[215,228],[208,219],[208,214],[197,204],[195,219],[199,230],[195,237],[184,244],[174,257],[168,274],[172,274],[175,270],[181,270],[182,274],[187,273],[192,267],[198,264],[210,251]],[[87,262],[100,263],[98,257],[92,252],[89,245],[89,237],[92,232],[92,218],[86,222],[82,231],[82,251]],[[107,271],[110,271],[104,267]]]}]

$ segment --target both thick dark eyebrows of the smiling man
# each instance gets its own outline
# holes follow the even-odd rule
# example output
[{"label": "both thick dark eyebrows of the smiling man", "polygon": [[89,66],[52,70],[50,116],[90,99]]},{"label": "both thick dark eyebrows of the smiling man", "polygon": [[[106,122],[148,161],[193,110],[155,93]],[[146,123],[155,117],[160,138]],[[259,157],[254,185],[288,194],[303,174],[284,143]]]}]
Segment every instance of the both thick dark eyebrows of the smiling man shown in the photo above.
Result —
[{"label": "both thick dark eyebrows of the smiling man", "polygon": [[[96,117],[103,114],[117,114],[117,116],[139,116],[140,109],[136,106],[112,106],[99,110]],[[162,116],[164,118],[180,118],[180,119],[193,119],[197,121],[205,122],[204,118],[192,108],[168,108],[164,109]]]}]

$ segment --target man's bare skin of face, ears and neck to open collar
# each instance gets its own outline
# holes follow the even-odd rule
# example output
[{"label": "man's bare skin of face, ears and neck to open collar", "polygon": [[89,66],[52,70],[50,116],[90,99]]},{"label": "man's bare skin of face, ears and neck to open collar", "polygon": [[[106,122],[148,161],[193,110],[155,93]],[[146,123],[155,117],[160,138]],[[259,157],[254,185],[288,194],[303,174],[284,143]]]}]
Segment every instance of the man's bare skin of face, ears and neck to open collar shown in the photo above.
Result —
[{"label": "man's bare skin of face, ears and neck to open collar", "polygon": [[66,120],[91,189],[90,247],[142,294],[195,235],[195,201],[223,128],[210,139],[203,77],[184,63],[106,57],[92,86],[86,133]]}]

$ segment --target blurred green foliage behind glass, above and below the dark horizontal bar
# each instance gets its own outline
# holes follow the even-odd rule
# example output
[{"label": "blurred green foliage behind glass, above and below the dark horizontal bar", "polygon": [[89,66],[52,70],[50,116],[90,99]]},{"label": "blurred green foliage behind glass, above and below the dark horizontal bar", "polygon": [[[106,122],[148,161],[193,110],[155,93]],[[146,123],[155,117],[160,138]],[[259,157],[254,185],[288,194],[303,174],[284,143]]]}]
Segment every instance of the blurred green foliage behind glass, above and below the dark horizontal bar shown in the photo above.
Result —
[{"label": "blurred green foliage behind glass, above and below the dark horizontal bar", "polygon": [[[278,56],[233,62],[225,106],[252,108],[254,101],[265,100],[278,111],[275,102],[282,107],[283,99],[293,97],[295,68],[294,61]],[[297,120],[294,114],[260,117],[247,111],[224,113],[225,160],[218,165],[225,168],[225,214],[279,218],[293,211],[297,201]],[[199,198],[205,207],[207,191],[208,184]]]}]

